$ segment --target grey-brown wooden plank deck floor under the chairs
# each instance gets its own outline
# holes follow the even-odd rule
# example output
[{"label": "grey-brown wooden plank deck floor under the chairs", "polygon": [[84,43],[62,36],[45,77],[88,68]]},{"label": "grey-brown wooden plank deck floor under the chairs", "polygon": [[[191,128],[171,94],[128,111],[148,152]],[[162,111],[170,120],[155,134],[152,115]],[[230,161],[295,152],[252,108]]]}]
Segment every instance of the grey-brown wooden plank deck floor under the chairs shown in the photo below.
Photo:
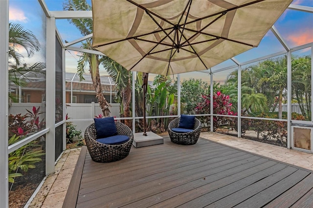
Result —
[{"label": "grey-brown wooden plank deck floor under the chairs", "polygon": [[113,163],[93,162],[86,149],[63,207],[313,207],[312,171],[209,140],[181,146],[164,138]]}]

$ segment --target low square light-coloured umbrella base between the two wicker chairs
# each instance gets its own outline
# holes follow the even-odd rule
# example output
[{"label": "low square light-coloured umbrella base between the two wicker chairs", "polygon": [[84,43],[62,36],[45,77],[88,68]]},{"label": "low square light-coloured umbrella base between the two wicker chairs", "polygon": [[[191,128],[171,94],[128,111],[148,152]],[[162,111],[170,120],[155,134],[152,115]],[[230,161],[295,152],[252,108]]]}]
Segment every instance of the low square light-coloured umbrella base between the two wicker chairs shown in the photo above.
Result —
[{"label": "low square light-coloured umbrella base between the two wicker chairs", "polygon": [[152,146],[163,144],[163,137],[153,133],[152,131],[147,132],[147,136],[142,135],[142,132],[134,133],[134,147]]}]

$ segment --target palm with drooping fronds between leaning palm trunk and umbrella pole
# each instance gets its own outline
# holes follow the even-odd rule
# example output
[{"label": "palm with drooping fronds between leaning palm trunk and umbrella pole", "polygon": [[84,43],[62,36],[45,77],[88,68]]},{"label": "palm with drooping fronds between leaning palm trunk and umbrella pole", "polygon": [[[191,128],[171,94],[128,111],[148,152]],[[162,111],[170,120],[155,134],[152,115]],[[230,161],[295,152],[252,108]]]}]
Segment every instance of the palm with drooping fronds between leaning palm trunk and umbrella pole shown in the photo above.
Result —
[{"label": "palm with drooping fronds between leaning palm trunk and umbrella pole", "polygon": [[[103,57],[102,63],[116,84],[115,92],[118,100],[121,101],[120,111],[123,113],[121,117],[131,117],[132,72],[107,56]],[[131,120],[125,120],[125,124],[130,128],[132,127]]]}]

